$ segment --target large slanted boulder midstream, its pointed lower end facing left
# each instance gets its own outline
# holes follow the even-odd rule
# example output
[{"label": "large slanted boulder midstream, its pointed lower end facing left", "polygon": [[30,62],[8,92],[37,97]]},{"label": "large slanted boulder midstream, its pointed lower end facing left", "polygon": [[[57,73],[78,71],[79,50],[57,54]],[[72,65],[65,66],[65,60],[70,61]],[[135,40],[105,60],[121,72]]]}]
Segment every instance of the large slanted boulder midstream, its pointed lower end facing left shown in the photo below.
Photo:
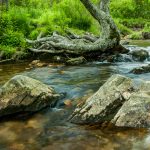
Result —
[{"label": "large slanted boulder midstream, its pointed lower end facing left", "polygon": [[130,78],[113,75],[92,97],[75,109],[70,121],[77,124],[111,121],[124,101],[130,98],[131,89]]}]

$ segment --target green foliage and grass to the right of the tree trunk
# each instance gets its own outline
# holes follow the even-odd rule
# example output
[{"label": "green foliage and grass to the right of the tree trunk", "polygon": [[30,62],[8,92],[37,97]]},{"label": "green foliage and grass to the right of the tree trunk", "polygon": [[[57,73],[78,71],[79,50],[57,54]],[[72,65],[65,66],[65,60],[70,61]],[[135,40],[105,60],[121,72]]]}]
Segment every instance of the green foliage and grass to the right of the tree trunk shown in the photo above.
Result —
[{"label": "green foliage and grass to the right of the tree trunk", "polygon": [[132,34],[139,39],[141,36],[135,30],[149,31],[150,0],[113,0],[110,9],[123,35]]}]

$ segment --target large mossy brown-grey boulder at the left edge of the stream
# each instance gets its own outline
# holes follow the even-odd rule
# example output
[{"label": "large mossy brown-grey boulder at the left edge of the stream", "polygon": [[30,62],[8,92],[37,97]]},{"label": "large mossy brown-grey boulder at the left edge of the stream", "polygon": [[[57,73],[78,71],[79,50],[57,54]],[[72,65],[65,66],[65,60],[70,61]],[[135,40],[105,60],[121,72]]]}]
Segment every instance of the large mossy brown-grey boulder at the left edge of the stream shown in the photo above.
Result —
[{"label": "large mossy brown-grey boulder at the left edge of the stream", "polygon": [[0,90],[0,117],[18,112],[36,112],[59,99],[53,88],[27,76],[17,75]]}]

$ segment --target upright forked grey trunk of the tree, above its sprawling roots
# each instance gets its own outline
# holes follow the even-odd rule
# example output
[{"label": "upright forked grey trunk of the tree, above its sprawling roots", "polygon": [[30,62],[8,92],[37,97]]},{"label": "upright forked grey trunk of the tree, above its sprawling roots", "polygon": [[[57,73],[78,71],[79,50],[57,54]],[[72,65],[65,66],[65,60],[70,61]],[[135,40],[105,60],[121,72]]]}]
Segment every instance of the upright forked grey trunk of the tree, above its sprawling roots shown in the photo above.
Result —
[{"label": "upright forked grey trunk of the tree, above its sprawling roots", "polygon": [[119,31],[109,13],[110,0],[101,0],[100,9],[98,9],[90,0],[80,1],[90,14],[99,22],[102,28],[101,38],[117,38],[120,40]]}]

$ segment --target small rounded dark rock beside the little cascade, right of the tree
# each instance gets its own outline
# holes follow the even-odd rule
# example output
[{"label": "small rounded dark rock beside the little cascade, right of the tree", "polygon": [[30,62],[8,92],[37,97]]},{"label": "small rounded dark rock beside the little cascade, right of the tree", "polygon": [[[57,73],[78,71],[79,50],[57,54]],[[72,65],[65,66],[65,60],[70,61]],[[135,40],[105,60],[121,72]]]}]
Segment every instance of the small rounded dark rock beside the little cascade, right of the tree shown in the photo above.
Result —
[{"label": "small rounded dark rock beside the little cascade, right of the tree", "polygon": [[134,50],[131,52],[132,58],[135,61],[145,61],[149,58],[149,53],[146,50]]}]

